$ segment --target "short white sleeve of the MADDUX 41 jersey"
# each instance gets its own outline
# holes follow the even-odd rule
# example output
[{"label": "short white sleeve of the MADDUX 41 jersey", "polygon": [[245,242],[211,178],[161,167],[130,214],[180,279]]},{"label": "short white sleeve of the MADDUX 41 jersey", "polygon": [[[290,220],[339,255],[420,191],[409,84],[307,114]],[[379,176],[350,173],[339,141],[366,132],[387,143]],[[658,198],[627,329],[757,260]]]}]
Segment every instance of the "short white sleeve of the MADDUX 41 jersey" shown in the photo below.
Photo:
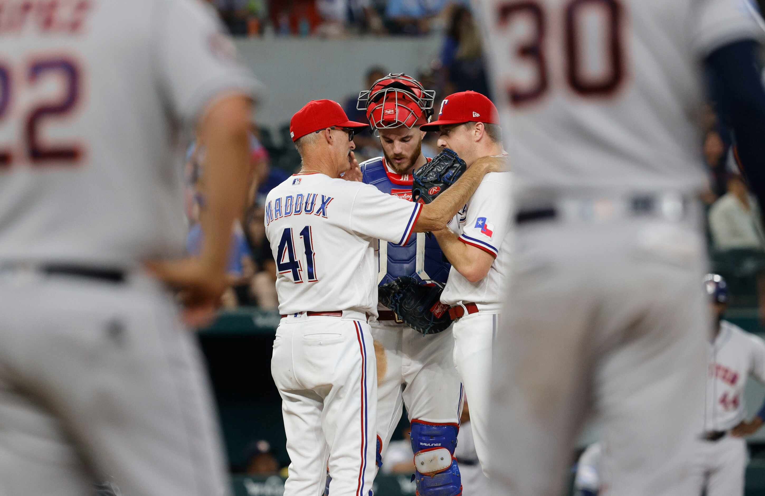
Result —
[{"label": "short white sleeve of the MADDUX 41 jersey", "polygon": [[[412,235],[422,204],[385,194],[363,184],[350,207],[350,230],[404,246]],[[404,229],[402,230],[402,226]]]}]

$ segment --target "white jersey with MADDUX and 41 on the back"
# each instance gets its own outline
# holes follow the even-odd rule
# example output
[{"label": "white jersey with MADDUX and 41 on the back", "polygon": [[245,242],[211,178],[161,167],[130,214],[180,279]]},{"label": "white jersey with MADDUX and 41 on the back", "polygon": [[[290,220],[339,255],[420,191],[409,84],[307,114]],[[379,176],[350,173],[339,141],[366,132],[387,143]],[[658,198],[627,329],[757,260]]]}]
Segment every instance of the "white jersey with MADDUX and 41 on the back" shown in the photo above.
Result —
[{"label": "white jersey with MADDUX and 41 on the back", "polygon": [[353,308],[377,315],[378,239],[404,245],[422,204],[360,182],[293,175],[268,194],[265,236],[279,312]]}]

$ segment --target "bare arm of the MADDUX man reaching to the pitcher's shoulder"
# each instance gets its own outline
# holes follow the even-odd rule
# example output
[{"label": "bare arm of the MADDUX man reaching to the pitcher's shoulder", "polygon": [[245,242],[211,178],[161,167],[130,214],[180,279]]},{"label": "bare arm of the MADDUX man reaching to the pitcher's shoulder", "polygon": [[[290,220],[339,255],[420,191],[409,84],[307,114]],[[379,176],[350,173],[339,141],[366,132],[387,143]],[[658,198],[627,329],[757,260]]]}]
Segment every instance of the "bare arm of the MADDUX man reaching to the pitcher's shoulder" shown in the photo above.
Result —
[{"label": "bare arm of the MADDUX man reaching to the pitcher's shoulder", "polygon": [[496,159],[478,160],[465,171],[462,177],[451,187],[438,195],[431,204],[424,205],[415,224],[415,233],[442,230],[457,210],[467,203],[475,193],[483,176],[489,172],[499,171],[503,161]]}]

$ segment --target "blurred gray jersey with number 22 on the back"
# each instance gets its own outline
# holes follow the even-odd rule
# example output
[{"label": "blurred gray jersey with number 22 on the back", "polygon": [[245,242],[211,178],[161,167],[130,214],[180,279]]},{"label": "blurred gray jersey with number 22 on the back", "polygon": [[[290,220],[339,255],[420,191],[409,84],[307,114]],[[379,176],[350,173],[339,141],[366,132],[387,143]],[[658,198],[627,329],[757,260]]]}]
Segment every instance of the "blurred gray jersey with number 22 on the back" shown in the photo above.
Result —
[{"label": "blurred gray jersey with number 22 on the back", "polygon": [[0,24],[0,259],[182,255],[179,131],[256,87],[214,11],[11,1]]}]

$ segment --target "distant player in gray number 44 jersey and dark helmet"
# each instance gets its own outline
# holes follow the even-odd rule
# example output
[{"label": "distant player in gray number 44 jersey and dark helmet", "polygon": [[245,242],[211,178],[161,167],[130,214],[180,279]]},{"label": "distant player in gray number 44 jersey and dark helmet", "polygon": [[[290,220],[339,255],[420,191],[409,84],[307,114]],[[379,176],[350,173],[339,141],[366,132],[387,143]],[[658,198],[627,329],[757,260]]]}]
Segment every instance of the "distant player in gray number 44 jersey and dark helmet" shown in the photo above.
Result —
[{"label": "distant player in gray number 44 jersey and dark helmet", "polygon": [[693,450],[695,494],[742,496],[749,454],[744,436],[765,419],[765,405],[747,420],[744,388],[749,377],[765,383],[765,341],[724,320],[728,285],[718,274],[704,281],[712,314],[708,344],[704,426]]}]

